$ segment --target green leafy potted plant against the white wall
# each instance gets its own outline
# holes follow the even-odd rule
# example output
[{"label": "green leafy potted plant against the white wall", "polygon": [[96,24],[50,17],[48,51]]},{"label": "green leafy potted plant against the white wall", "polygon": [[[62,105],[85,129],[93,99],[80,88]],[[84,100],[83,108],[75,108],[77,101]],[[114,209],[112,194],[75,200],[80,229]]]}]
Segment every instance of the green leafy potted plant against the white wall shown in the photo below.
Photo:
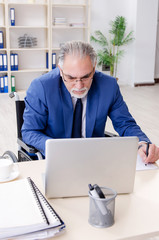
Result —
[{"label": "green leafy potted plant against the white wall", "polygon": [[91,36],[91,41],[102,47],[97,51],[98,65],[109,66],[110,75],[115,78],[118,63],[124,55],[124,50],[121,47],[134,40],[133,31],[126,35],[126,25],[125,17],[117,16],[114,21],[110,22],[109,39],[100,30],[95,31],[95,36]]}]

